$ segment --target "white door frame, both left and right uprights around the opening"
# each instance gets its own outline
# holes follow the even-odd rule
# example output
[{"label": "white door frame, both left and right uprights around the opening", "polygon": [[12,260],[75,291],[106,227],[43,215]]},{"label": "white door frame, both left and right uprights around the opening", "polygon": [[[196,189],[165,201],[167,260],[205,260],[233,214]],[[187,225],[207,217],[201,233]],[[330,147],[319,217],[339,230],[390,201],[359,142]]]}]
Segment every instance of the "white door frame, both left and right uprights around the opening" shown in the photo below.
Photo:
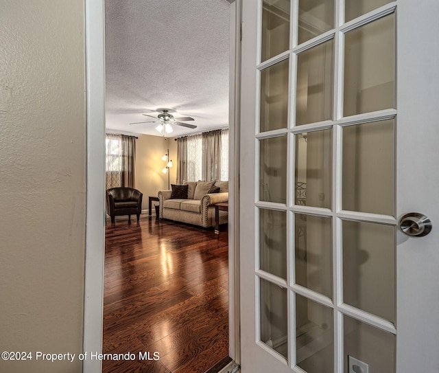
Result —
[{"label": "white door frame, both left and right uprights around the opening", "polygon": [[[219,0],[220,1],[220,0]],[[239,85],[241,0],[230,2],[229,69],[229,356],[239,363]],[[86,236],[83,351],[102,352],[105,251],[105,12],[104,0],[84,1],[86,58]],[[230,168],[230,165],[232,168]],[[102,361],[84,360],[84,373]]]}]

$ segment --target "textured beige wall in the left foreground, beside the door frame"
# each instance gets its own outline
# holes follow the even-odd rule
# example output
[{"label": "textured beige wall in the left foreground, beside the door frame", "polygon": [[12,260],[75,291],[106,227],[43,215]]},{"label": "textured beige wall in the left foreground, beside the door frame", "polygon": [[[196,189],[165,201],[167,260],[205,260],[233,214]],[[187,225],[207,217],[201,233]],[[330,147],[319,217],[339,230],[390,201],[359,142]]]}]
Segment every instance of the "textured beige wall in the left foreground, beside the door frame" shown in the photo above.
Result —
[{"label": "textured beige wall in the left foreground, beside the door frame", "polygon": [[84,3],[0,3],[0,372],[81,372],[85,229]]}]

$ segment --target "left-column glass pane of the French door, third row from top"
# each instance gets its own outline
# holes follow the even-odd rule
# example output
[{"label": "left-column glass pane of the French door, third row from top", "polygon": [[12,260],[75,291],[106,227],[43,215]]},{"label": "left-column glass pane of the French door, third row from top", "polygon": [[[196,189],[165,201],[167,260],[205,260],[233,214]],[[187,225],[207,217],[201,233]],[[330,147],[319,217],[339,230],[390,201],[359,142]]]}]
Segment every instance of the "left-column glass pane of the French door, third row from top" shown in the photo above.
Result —
[{"label": "left-column glass pane of the French door, third row from top", "polygon": [[287,201],[287,137],[262,139],[259,159],[259,199]]}]

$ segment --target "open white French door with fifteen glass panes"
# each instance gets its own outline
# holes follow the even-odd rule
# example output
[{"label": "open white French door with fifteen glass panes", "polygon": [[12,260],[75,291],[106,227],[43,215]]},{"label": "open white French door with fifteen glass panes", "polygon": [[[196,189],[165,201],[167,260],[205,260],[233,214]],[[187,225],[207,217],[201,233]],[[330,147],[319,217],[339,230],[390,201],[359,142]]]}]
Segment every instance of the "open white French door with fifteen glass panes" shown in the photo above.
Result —
[{"label": "open white French door with fifteen glass panes", "polygon": [[242,0],[242,372],[439,372],[438,14]]}]

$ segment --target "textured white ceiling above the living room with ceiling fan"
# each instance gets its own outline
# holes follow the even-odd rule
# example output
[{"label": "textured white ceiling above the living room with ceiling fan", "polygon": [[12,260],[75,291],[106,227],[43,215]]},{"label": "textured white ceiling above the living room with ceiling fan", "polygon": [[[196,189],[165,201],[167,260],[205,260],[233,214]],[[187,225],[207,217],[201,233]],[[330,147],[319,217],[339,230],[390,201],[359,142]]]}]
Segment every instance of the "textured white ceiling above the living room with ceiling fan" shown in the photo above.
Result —
[{"label": "textured white ceiling above the living room with ceiling fan", "polygon": [[159,135],[158,108],[198,128],[228,126],[230,3],[225,0],[106,0],[107,131]]}]

